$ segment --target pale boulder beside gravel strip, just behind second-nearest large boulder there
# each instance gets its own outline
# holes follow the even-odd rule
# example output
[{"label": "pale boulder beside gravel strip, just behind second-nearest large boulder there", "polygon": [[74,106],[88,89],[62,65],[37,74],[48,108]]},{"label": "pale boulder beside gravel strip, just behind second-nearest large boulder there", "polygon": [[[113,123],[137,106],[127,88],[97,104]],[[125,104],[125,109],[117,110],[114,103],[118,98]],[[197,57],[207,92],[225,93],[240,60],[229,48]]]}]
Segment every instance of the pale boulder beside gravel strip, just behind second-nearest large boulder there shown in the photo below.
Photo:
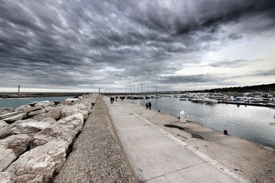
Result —
[{"label": "pale boulder beside gravel strip, just behind second-nearest large boulder there", "polygon": [[74,106],[65,106],[61,110],[61,119],[71,116],[72,114],[81,113],[83,114],[84,119],[88,118],[88,110],[85,105],[78,103]]}]

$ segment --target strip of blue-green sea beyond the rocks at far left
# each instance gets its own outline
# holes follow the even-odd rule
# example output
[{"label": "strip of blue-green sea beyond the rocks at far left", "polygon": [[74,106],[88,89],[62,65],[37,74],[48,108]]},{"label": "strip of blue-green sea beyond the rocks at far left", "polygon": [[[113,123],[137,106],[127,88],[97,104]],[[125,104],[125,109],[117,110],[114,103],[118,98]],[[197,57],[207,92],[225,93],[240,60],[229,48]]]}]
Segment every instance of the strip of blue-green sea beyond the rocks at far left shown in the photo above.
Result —
[{"label": "strip of blue-green sea beyond the rocks at far left", "polygon": [[16,109],[19,106],[25,105],[27,103],[31,103],[33,101],[43,101],[43,100],[49,100],[49,101],[63,101],[67,98],[72,97],[34,97],[30,99],[0,99],[0,108],[13,108]]}]

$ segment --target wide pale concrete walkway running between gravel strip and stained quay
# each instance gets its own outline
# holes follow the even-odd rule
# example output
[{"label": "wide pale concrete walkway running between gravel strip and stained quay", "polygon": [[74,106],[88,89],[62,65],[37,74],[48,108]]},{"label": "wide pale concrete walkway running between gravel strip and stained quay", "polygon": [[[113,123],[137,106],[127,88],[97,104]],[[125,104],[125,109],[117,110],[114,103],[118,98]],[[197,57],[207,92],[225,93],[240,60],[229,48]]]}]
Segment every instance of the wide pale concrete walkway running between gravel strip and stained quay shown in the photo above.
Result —
[{"label": "wide pale concrete walkway running between gravel strip and stained quay", "polygon": [[128,108],[104,102],[140,182],[245,182]]}]

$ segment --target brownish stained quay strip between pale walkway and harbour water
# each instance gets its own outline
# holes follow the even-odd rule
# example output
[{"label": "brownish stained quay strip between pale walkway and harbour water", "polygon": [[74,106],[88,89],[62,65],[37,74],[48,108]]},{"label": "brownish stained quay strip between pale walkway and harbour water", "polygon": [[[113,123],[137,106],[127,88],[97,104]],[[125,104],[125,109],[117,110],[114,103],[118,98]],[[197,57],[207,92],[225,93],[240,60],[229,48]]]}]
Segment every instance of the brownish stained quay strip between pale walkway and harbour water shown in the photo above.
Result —
[{"label": "brownish stained quay strip between pale walkway and harbour water", "polygon": [[238,136],[226,136],[197,123],[179,123],[176,117],[140,108],[135,103],[119,103],[251,182],[274,182],[275,149],[272,147]]}]

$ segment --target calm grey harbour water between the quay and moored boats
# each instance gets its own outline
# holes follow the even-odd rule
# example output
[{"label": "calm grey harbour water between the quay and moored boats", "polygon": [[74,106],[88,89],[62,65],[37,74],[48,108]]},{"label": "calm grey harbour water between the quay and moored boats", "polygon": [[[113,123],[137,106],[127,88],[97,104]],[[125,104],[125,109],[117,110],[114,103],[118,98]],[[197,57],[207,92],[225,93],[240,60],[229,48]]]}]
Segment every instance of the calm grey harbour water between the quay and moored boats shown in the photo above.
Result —
[{"label": "calm grey harbour water between the quay and moored boats", "polygon": [[[141,100],[142,106],[148,100]],[[275,110],[256,106],[226,105],[225,103],[206,105],[180,101],[177,98],[163,97],[150,99],[152,108],[175,117],[184,110],[187,119],[215,130],[228,130],[229,134],[239,136],[275,149]]]}]

